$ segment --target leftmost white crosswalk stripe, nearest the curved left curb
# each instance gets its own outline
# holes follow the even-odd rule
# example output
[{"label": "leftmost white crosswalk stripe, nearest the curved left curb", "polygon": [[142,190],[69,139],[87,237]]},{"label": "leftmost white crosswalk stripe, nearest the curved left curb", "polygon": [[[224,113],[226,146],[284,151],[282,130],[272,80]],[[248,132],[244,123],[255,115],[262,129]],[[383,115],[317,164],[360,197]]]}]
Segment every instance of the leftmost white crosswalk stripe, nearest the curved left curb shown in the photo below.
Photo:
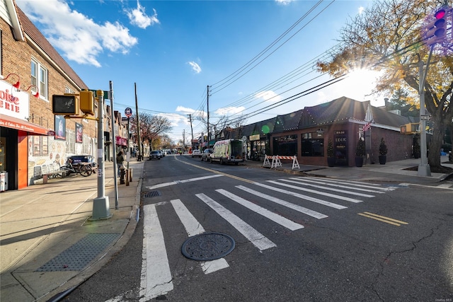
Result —
[{"label": "leftmost white crosswalk stripe, nearest the curved left curb", "polygon": [[143,207],[143,252],[140,302],[149,301],[173,290],[164,234],[154,204]]}]

